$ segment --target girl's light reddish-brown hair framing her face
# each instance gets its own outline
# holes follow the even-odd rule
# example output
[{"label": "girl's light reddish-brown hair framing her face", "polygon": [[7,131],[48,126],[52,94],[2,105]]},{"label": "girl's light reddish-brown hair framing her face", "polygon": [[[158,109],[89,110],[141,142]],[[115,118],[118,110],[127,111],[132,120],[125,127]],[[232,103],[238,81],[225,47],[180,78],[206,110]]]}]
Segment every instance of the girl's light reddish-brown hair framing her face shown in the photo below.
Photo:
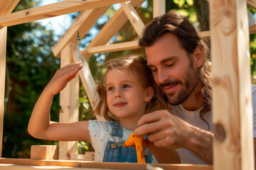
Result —
[{"label": "girl's light reddish-brown hair framing her face", "polygon": [[145,113],[150,113],[153,111],[168,109],[169,106],[166,104],[164,96],[161,94],[161,89],[156,85],[154,77],[151,74],[151,69],[146,66],[146,60],[143,57],[129,55],[125,57],[119,57],[114,60],[109,60],[105,64],[107,69],[102,79],[100,79],[99,84],[97,84],[97,94],[95,102],[95,114],[103,115],[105,120],[118,120],[111,112],[107,106],[107,89],[105,86],[105,78],[107,72],[113,70],[114,72],[120,72],[122,70],[127,70],[132,77],[136,86],[139,89],[146,91],[146,89],[151,86],[154,89],[154,96],[145,105]]}]

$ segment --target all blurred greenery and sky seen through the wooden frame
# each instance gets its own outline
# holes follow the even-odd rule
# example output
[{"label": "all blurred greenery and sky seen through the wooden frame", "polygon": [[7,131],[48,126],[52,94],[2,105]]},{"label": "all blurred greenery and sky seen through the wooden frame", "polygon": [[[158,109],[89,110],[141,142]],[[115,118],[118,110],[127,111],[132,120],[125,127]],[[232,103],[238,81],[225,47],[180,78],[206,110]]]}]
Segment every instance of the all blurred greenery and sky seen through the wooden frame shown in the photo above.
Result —
[{"label": "all blurred greenery and sky seen through the wooden frame", "polygon": [[[40,3],[41,1],[23,0],[19,2],[14,11],[32,8],[40,5]],[[146,0],[137,11],[144,23],[148,23],[153,16],[152,5],[153,0]],[[87,33],[81,41],[83,48],[93,40],[102,26],[113,16],[117,11],[117,7],[112,6],[97,21],[93,31]],[[206,0],[166,0],[166,11],[172,9],[176,9],[183,16],[188,17],[198,30],[209,30],[208,2]],[[248,7],[248,10],[252,14],[255,13],[253,8]],[[78,13],[70,14],[71,21],[77,15]],[[70,25],[70,23],[67,24]],[[2,157],[29,158],[31,145],[58,145],[58,142],[35,139],[28,135],[27,132],[28,120],[36,100],[43,88],[48,84],[48,81],[53,77],[55,71],[60,67],[59,58],[54,57],[51,52],[51,48],[60,37],[60,35],[55,35],[53,30],[54,28],[48,29],[40,22],[24,23],[8,28]],[[128,21],[110,42],[124,42],[135,38],[137,38],[137,33]],[[143,50],[137,49],[92,55],[88,60],[88,64],[95,82],[97,83],[99,77],[102,76],[102,63],[114,57],[134,52],[143,53]],[[250,35],[250,52],[252,83],[255,84],[256,37],[254,34]],[[58,121],[59,111],[59,95],[56,95],[51,108],[51,120]],[[95,119],[82,85],[80,86],[79,113],[80,120]],[[88,142],[78,142],[78,152],[80,154],[85,153],[87,150],[93,150]]]}]

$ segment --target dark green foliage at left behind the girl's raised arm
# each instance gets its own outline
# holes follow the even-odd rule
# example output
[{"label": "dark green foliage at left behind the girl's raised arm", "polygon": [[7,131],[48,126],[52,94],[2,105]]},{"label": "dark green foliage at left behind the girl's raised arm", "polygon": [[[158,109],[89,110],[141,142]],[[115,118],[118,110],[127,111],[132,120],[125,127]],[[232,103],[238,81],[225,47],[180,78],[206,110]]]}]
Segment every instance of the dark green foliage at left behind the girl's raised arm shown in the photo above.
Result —
[{"label": "dark green foliage at left behind the girl's raised arm", "polygon": [[[35,5],[23,0],[14,11]],[[8,28],[3,157],[29,158],[31,145],[53,144],[28,135],[27,126],[38,96],[59,67],[59,59],[51,52],[54,44],[52,31],[40,23]],[[51,109],[53,120],[58,120],[58,98]]]}]

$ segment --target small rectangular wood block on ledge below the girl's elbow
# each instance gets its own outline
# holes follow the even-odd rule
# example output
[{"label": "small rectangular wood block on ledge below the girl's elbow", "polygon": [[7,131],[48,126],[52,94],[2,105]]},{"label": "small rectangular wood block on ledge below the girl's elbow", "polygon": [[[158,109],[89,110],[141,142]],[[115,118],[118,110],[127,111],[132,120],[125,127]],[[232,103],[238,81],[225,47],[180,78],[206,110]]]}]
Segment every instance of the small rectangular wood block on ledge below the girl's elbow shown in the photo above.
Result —
[{"label": "small rectangular wood block on ledge below the girl's elbow", "polygon": [[31,159],[58,159],[57,145],[32,145]]}]

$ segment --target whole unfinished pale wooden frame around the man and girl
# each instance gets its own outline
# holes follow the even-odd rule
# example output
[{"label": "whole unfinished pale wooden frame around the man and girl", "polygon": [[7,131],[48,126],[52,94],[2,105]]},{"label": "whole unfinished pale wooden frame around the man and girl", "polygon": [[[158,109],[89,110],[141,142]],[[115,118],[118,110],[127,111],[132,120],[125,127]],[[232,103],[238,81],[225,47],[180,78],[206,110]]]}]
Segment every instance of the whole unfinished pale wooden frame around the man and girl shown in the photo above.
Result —
[{"label": "whole unfinished pale wooden frame around the man and girl", "polygon": [[[138,48],[137,40],[106,45],[115,33],[130,21],[137,34],[142,33],[144,23],[137,15],[136,9],[144,0],[64,0],[55,4],[39,6],[16,13],[11,13],[19,0],[0,0],[0,151],[3,136],[4,117],[4,83],[6,65],[6,33],[8,26],[20,23],[50,18],[66,13],[82,11],[72,26],[53,47],[53,54],[60,57],[60,66],[77,61],[76,31],[80,30],[83,38],[98,18],[112,4],[121,3],[117,13],[102,28],[97,37],[82,51],[82,72],[80,79],[92,106],[92,94],[95,92],[95,82],[90,74],[86,60],[92,54]],[[216,123],[214,140],[213,166],[188,164],[132,164],[132,163],[96,163],[79,161],[46,161],[32,159],[0,158],[0,169],[33,169],[32,166],[72,166],[73,169],[84,167],[109,169],[254,169],[254,154],[252,142],[252,98],[250,90],[250,56],[249,29],[246,5],[256,8],[255,0],[211,0],[210,31],[200,33],[202,37],[211,39],[213,58],[213,121]],[[154,16],[164,14],[164,0],[154,0]],[[110,29],[111,28],[111,29]],[[107,31],[107,34],[106,34]],[[256,33],[256,26],[250,28],[250,33]],[[78,101],[68,98],[78,98],[78,82],[76,78],[61,91],[60,113],[61,122],[78,120]],[[71,86],[73,87],[71,93]],[[75,88],[75,90],[74,90]],[[74,92],[75,91],[75,92]],[[64,100],[65,98],[65,100]],[[70,113],[75,113],[70,114]],[[97,119],[101,119],[98,117]],[[60,159],[76,159],[76,142],[60,142]],[[1,152],[0,152],[1,157]],[[10,166],[10,164],[13,164]],[[63,167],[63,169],[65,169]],[[49,168],[49,167],[48,167]]]}]

